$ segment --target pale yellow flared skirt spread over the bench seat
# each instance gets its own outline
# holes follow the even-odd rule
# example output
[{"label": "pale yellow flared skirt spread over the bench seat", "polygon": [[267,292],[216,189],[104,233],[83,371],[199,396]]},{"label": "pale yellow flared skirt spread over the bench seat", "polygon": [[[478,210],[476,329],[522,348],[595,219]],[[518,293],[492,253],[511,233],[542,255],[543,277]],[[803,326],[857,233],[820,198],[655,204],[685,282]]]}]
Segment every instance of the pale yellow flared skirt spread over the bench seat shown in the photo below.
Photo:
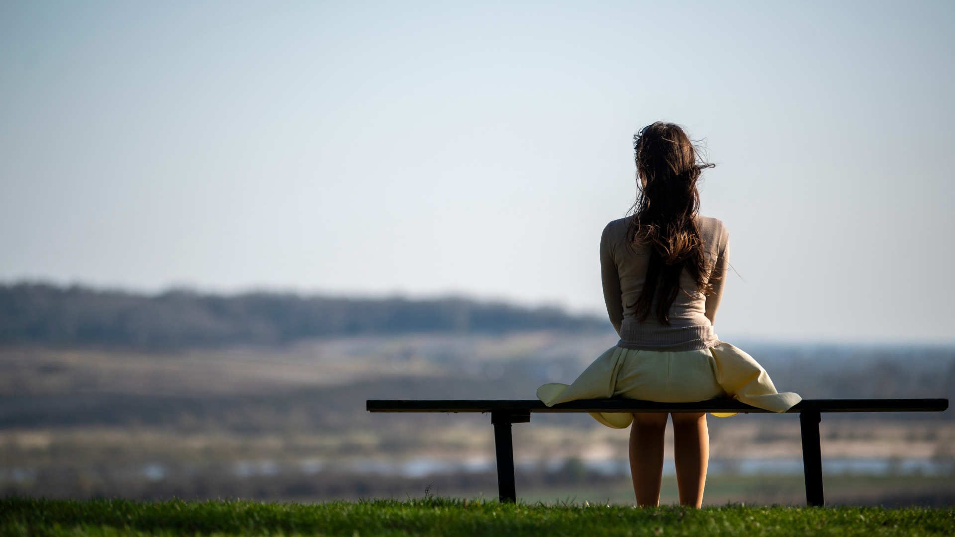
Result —
[{"label": "pale yellow flared skirt spread over the bench seat", "polygon": [[[573,384],[544,384],[538,388],[537,396],[547,406],[578,399],[694,402],[736,398],[780,413],[802,400],[791,392],[777,393],[773,380],[753,356],[729,343],[679,353],[612,347],[594,360]],[[712,414],[722,418],[736,413]],[[591,413],[590,416],[615,429],[629,427],[633,421],[629,413]]]}]

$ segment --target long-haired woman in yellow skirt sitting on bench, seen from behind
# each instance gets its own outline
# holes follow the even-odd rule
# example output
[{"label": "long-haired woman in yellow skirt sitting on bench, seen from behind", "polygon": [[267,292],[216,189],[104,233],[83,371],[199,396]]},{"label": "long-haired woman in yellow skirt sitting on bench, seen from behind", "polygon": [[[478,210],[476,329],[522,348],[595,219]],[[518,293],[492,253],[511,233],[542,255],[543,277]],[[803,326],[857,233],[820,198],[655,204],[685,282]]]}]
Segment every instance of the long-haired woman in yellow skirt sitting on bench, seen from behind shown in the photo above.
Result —
[{"label": "long-haired woman in yellow skirt sitting on bench, seen from behind", "polygon": [[[571,385],[544,384],[548,406],[575,399],[625,397],[691,402],[733,397],[785,412],[796,394],[776,393],[766,371],[713,333],[729,262],[723,223],[699,216],[700,161],[678,125],[656,122],[633,137],[637,202],[633,216],[604,229],[604,298],[620,342]],[[630,428],[630,471],[638,505],[658,505],[668,413],[591,414]],[[732,416],[732,414],[716,415]],[[673,413],[680,504],[703,502],[710,437],[706,414]]]}]

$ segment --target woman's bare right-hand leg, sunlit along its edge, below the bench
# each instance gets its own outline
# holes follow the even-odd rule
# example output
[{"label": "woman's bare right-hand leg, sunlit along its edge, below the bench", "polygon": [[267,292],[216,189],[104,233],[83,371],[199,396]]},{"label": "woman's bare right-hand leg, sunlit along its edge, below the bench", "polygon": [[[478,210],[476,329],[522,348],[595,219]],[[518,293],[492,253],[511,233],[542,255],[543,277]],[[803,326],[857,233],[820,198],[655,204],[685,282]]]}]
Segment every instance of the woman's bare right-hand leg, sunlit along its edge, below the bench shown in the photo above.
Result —
[{"label": "woman's bare right-hand leg, sunlit along its edge, below the bench", "polygon": [[[710,462],[710,432],[706,414],[673,413],[673,455],[676,483],[680,487],[680,505],[703,505],[703,487],[707,483]],[[633,445],[633,437],[630,437]],[[630,453],[632,453],[632,447]],[[632,457],[632,456],[631,456]]]}]

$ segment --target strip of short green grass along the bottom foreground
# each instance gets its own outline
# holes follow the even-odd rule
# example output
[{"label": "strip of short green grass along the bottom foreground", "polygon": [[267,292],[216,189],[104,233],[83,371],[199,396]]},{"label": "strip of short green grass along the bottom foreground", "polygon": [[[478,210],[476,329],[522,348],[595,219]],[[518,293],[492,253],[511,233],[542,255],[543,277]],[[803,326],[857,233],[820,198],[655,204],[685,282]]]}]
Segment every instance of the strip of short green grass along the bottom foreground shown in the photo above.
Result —
[{"label": "strip of short green grass along the bottom foreground", "polygon": [[0,535],[952,535],[952,508],[0,500]]}]

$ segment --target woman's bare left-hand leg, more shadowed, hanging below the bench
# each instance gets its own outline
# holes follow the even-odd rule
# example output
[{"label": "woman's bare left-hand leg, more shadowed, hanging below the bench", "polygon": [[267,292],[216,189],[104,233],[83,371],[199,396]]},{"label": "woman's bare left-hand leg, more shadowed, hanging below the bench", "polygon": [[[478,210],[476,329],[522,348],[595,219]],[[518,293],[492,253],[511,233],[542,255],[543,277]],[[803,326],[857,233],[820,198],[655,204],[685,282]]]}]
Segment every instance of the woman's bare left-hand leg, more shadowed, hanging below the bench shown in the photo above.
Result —
[{"label": "woman's bare left-hand leg, more shadowed, hanging below the bench", "polygon": [[630,426],[630,475],[637,505],[660,505],[663,476],[663,434],[666,412],[634,413]]}]

